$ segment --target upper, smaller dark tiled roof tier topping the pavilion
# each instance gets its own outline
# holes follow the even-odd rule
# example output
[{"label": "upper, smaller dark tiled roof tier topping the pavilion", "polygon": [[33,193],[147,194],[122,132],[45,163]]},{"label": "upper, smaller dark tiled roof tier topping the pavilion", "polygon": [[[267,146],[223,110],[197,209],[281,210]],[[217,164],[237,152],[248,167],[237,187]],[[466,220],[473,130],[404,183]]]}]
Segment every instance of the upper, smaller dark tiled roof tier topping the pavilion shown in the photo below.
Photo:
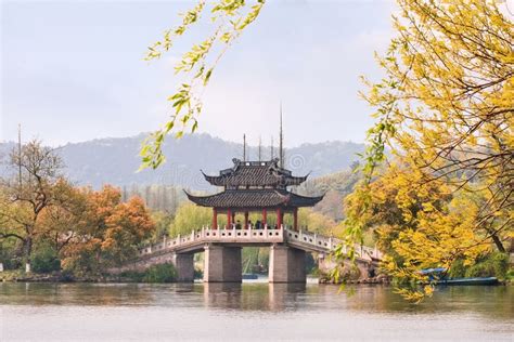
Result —
[{"label": "upper, smaller dark tiled roof tier topping the pavilion", "polygon": [[272,186],[285,188],[291,185],[304,183],[305,176],[294,176],[290,170],[279,167],[279,158],[269,161],[241,161],[232,159],[234,166],[221,170],[219,175],[207,175],[203,171],[205,180],[211,185],[236,187],[236,186]]}]

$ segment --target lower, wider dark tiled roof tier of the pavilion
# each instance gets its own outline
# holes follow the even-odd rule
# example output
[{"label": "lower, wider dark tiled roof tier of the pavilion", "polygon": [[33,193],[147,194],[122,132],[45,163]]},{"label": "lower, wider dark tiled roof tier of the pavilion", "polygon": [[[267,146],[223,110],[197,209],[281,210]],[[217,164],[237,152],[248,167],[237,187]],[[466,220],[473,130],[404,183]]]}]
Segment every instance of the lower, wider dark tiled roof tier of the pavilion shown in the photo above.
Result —
[{"label": "lower, wider dark tiled roof tier of the pavilion", "polygon": [[188,198],[202,207],[214,208],[273,208],[312,207],[323,196],[306,197],[285,189],[227,189],[209,196],[194,196],[185,192]]}]

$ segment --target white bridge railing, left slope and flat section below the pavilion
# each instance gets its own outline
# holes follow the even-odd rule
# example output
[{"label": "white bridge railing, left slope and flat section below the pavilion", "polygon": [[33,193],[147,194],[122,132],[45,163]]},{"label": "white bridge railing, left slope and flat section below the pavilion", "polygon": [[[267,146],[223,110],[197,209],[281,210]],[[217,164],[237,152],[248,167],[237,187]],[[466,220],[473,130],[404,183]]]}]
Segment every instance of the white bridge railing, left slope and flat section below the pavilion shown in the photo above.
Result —
[{"label": "white bridge railing, left slope and flat section below the pavilion", "polygon": [[163,250],[187,248],[198,244],[208,242],[255,242],[255,244],[280,244],[284,241],[284,229],[213,229],[210,227],[202,227],[194,229],[188,235],[178,236],[169,239],[164,238],[163,241],[143,247],[139,254],[147,255]]}]

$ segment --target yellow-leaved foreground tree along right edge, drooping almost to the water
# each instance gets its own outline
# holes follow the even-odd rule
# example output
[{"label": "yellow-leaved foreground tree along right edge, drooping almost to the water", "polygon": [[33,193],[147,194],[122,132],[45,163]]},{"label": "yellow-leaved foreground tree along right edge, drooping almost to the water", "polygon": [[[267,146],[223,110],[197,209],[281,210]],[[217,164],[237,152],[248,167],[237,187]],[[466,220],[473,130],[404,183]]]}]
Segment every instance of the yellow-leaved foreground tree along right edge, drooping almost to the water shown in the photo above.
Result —
[{"label": "yellow-leaved foreground tree along right edge, drooping almost to the water", "polygon": [[[367,181],[385,159],[387,145],[412,173],[407,183],[396,182],[398,194],[441,184],[454,197],[441,210],[419,198],[416,215],[402,218],[407,221],[391,247],[403,264],[389,269],[411,277],[436,261],[470,260],[491,244],[504,252],[512,236],[514,26],[498,1],[397,2],[397,36],[377,57],[386,77],[377,83],[364,80],[369,91],[363,96],[377,118],[369,131]],[[347,220],[355,238],[365,224],[362,214],[380,203],[373,189],[364,184],[352,195],[361,202]],[[409,205],[403,199],[395,198],[398,209]],[[468,208],[467,214],[460,208]],[[415,220],[415,229],[409,219]]]}]

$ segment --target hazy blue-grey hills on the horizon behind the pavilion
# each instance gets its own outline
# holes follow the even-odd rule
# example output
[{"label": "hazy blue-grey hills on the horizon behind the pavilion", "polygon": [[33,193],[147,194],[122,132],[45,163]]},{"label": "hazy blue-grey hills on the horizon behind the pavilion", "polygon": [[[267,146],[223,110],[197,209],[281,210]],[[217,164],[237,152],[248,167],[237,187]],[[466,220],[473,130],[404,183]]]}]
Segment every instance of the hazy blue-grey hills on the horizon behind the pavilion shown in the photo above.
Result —
[{"label": "hazy blue-grey hills on the horizon behind the pavilion", "polygon": [[[137,172],[139,149],[145,134],[131,137],[99,139],[66,144],[59,153],[66,163],[68,176],[77,184],[100,187],[115,185],[175,184],[197,190],[209,189],[200,170],[215,174],[232,166],[232,158],[242,158],[243,146],[208,134],[187,135],[180,140],[169,137],[164,146],[167,162],[157,170]],[[15,145],[0,143],[0,157]],[[311,172],[310,177],[322,176],[347,169],[358,159],[363,144],[326,142],[304,144],[285,149],[286,167],[294,174]],[[274,148],[277,155],[278,148]],[[258,159],[258,148],[247,149],[248,159]],[[262,147],[262,159],[270,158],[270,148]]]}]

